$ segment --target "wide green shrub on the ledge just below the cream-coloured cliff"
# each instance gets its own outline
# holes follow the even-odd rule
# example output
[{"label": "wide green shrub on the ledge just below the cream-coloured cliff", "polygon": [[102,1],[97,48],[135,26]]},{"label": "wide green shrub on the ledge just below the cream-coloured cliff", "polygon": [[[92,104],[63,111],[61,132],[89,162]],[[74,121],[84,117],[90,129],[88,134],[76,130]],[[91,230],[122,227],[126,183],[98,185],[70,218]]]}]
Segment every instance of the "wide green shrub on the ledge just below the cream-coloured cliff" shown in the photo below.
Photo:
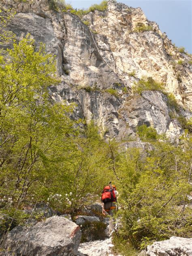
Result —
[{"label": "wide green shrub on the ledge just below the cream-coloured cliff", "polygon": [[141,94],[143,91],[160,91],[164,92],[163,83],[159,83],[148,77],[147,79],[142,78],[135,86],[132,88],[133,93]]}]

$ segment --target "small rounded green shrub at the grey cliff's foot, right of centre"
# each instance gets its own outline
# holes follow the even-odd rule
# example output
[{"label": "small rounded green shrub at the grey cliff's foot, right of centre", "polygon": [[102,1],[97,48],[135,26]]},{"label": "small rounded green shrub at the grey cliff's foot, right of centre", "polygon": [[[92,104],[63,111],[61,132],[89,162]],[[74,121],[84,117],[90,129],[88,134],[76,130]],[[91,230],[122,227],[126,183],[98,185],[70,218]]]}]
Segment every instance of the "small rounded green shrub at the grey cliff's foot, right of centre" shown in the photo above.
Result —
[{"label": "small rounded green shrub at the grey cliff's foot, right of centre", "polygon": [[147,127],[146,124],[137,127],[137,134],[141,139],[146,141],[154,141],[158,137],[157,131],[151,126]]}]

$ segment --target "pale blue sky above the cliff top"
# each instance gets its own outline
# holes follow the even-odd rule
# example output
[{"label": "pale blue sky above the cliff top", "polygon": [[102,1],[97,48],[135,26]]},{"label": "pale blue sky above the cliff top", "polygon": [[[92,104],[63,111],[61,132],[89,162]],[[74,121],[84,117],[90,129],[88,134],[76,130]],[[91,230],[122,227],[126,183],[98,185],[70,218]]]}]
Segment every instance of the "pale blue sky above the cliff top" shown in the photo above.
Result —
[{"label": "pale blue sky above the cliff top", "polygon": [[[73,8],[87,9],[101,0],[66,0]],[[150,21],[158,23],[177,47],[192,53],[192,1],[191,0],[117,0],[128,6],[141,7]]]}]

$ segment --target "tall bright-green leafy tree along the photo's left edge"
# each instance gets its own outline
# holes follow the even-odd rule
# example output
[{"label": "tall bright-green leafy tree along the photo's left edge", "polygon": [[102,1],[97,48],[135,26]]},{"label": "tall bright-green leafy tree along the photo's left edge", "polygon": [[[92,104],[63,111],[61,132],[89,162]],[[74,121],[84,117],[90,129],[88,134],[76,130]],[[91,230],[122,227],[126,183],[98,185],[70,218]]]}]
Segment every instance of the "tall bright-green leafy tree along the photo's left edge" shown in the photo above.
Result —
[{"label": "tall bright-green leafy tree along the photo's left edge", "polygon": [[34,44],[27,35],[0,58],[0,198],[8,211],[45,201],[60,180],[55,162],[66,157],[78,133],[73,105],[53,105],[49,96],[49,86],[58,83],[54,57]]}]

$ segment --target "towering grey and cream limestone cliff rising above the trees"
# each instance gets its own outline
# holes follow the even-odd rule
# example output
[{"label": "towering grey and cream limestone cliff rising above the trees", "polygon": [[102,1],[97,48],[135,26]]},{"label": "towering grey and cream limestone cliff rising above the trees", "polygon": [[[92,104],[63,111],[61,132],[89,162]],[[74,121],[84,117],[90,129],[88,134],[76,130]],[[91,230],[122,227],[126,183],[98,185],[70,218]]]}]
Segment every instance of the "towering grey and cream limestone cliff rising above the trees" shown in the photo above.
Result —
[{"label": "towering grey and cream limestone cliff rising above the trees", "polygon": [[[45,43],[47,52],[56,55],[61,83],[50,88],[53,99],[76,102],[75,118],[95,119],[106,137],[135,136],[142,124],[160,134],[179,136],[182,128],[169,115],[174,109],[167,97],[154,91],[132,95],[132,86],[143,76],[164,82],[166,91],[186,109],[178,115],[189,118],[190,56],[180,52],[140,8],[110,0],[106,11],[93,11],[80,19],[69,11],[50,10],[47,1],[1,2],[17,11],[9,30],[18,38],[30,33],[37,45]],[[150,30],[138,32],[138,23]]]}]

